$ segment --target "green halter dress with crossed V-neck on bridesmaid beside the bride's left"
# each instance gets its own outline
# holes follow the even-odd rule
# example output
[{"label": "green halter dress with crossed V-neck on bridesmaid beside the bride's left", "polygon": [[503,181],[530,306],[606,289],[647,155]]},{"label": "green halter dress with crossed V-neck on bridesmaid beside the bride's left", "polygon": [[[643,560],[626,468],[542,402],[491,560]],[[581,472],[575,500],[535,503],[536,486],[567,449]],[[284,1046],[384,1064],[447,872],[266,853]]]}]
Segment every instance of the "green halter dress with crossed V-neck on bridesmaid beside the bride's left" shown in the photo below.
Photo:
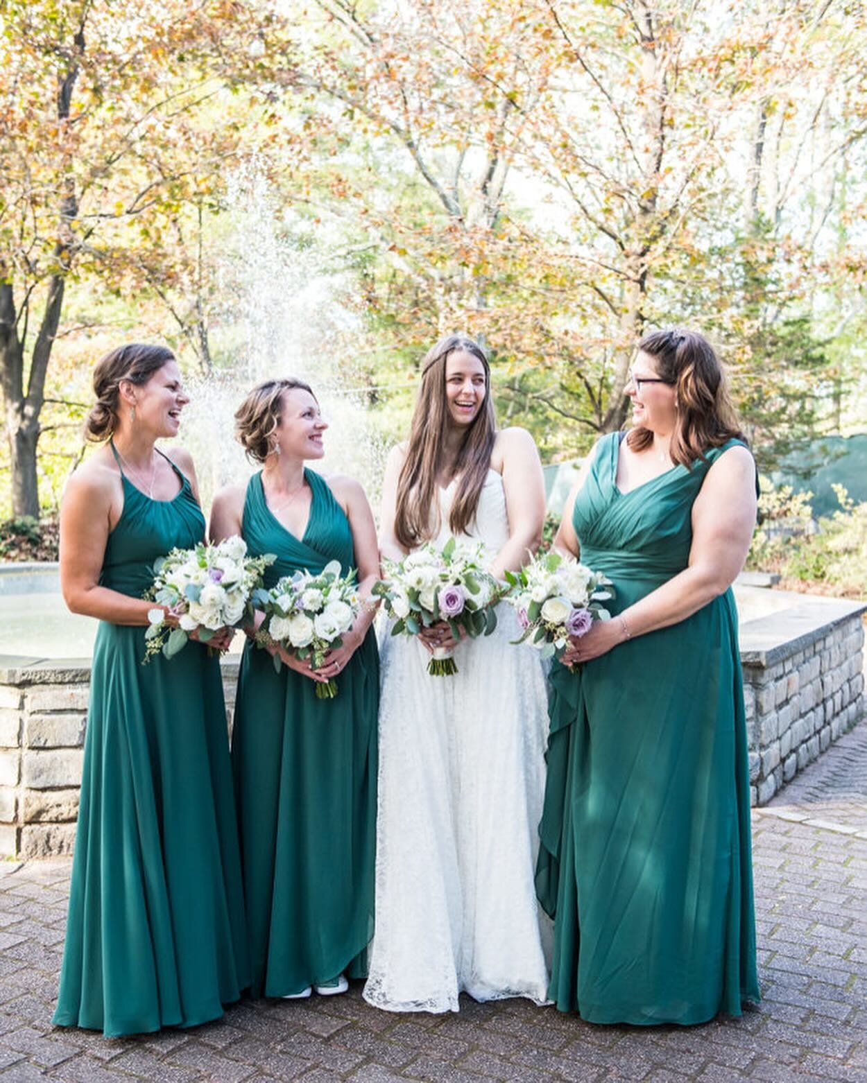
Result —
[{"label": "green halter dress with crossed V-neck on bridesmaid beside the bride's left", "polygon": [[[331,560],[354,566],[349,521],[311,470],[303,537],[266,504],[261,473],[247,486],[243,536],[254,554],[276,553],[266,585]],[[373,936],[376,716],[379,655],[373,630],[337,677],[334,700],[247,643],[241,664],[235,773],[253,994],[284,996],[366,974]]]}]

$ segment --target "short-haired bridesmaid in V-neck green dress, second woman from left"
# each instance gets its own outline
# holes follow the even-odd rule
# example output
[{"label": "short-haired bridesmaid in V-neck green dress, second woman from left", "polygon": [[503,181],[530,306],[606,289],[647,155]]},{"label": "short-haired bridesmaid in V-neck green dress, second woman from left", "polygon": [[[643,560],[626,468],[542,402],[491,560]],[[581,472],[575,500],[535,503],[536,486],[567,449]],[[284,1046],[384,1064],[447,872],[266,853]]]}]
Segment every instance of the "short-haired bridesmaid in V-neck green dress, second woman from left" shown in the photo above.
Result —
[{"label": "short-haired bridesmaid in V-neck green dress, second woman from left", "polygon": [[[370,590],[379,574],[376,530],[351,478],[326,482],[305,460],[323,455],[327,428],[310,388],[269,380],[237,410],[236,433],[263,465],[213,501],[211,537],[241,533],[254,554],[276,553],[266,586],[328,561],[358,570],[366,603],[344,644],[312,670],[248,642],[235,702],[235,773],[253,994],[344,992],[364,977],[373,936],[376,718],[379,656]],[[315,682],[337,678],[334,700]]]}]

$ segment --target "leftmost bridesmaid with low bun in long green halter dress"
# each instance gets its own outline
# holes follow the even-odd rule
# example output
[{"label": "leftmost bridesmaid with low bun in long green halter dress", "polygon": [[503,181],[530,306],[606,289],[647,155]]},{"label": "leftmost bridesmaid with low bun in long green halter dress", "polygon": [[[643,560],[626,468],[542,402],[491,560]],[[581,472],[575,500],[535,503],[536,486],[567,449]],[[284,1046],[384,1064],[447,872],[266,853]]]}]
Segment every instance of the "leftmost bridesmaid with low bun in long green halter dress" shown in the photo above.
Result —
[{"label": "leftmost bridesmaid with low bun in long green halter dress", "polygon": [[154,446],[189,400],[163,347],[114,350],[93,386],[105,443],[61,508],[63,596],[100,626],[54,1022],[115,1036],[216,1019],[249,968],[218,660],[142,665],[153,562],[205,535],[192,459]]}]

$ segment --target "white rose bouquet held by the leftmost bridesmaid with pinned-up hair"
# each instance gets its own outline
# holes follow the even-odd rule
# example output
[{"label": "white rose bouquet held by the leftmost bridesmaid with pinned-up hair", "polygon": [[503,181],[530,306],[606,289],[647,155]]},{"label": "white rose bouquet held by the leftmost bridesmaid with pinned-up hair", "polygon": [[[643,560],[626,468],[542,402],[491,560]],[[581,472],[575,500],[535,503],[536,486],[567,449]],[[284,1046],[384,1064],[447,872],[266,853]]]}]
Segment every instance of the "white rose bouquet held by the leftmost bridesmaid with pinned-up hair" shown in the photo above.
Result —
[{"label": "white rose bouquet held by the leftmost bridesmaid with pinned-up hair", "polygon": [[160,557],[144,597],[168,606],[179,627],[169,627],[165,610],[152,609],[143,661],[160,652],[173,657],[192,631],[207,643],[221,628],[236,628],[245,617],[253,619],[253,591],[274,560],[271,553],[248,557],[247,543],[237,535],[217,545],[202,542],[193,549],[172,549]]}]

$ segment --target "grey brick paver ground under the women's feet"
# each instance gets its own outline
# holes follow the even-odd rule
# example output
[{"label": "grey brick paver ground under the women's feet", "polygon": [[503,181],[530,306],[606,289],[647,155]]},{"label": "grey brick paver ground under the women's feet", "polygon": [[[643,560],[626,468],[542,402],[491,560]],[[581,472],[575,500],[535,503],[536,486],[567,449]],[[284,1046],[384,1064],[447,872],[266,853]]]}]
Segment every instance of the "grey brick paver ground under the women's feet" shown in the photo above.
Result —
[{"label": "grey brick paver ground under the women's feet", "polygon": [[68,1080],[867,1081],[867,722],[753,813],[764,1000],[689,1029],[595,1027],[523,1001],[448,1016],[345,996],[242,1002],[137,1039],[51,1026],[69,861],[0,863],[0,1083]]}]

